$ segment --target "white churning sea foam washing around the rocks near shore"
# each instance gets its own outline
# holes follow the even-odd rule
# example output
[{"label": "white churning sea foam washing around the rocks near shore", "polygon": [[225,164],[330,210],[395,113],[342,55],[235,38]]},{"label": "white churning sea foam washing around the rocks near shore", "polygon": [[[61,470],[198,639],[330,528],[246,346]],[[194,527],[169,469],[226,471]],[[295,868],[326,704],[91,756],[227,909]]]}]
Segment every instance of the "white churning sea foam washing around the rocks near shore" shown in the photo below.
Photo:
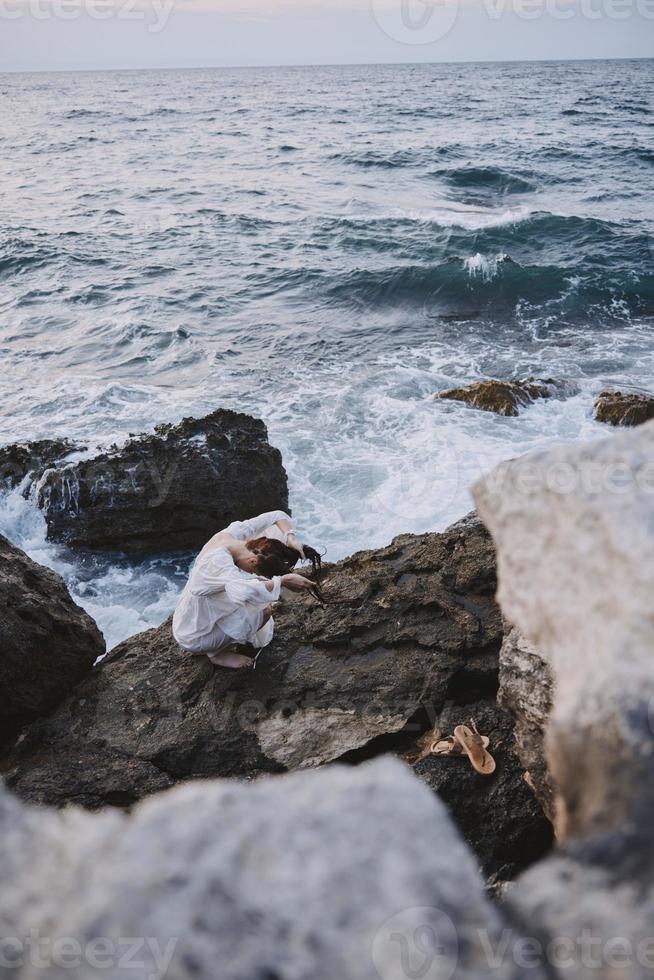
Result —
[{"label": "white churning sea foam washing around the rocks near shore", "polygon": [[[483,270],[484,262],[478,264]],[[263,380],[249,365],[214,364],[193,386],[153,385],[147,400],[125,398],[111,411],[96,398],[104,386],[94,387],[89,379],[83,411],[79,406],[71,411],[64,402],[49,425],[57,435],[90,435],[95,443],[97,433],[107,440],[112,427],[127,433],[176,420],[182,414],[179,405],[185,415],[202,416],[217,407],[257,415],[282,452],[291,506],[304,537],[337,560],[361,548],[381,547],[403,532],[442,530],[471,508],[470,485],[499,461],[606,434],[592,418],[593,395],[604,381],[654,381],[647,322],[623,332],[596,327],[597,355],[588,380],[578,344],[569,343],[565,331],[550,335],[549,330],[544,314],[525,321],[516,333],[506,331],[492,345],[483,331],[466,329],[464,341],[456,345],[432,341],[390,354],[371,353],[365,361],[287,360],[279,377],[263,365]],[[485,376],[529,374],[580,379],[580,393],[536,402],[508,419],[431,398],[436,390]],[[216,393],[210,402],[208,391]],[[39,416],[30,418],[32,425],[42,424]],[[21,431],[26,438],[40,435],[30,432],[27,423]],[[110,646],[158,625],[181,588],[183,570],[165,563],[80,566],[47,541],[42,515],[19,491],[0,497],[0,530],[63,575]]]}]

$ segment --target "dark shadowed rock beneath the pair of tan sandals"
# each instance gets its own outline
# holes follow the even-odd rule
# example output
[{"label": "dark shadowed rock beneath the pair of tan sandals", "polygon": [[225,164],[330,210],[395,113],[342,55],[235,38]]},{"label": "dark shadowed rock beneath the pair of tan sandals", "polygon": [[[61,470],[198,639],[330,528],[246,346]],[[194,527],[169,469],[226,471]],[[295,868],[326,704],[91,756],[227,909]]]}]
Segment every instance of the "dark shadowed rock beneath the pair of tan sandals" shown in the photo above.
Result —
[{"label": "dark shadowed rock beneath the pair of tan sandals", "polygon": [[490,739],[497,763],[492,776],[476,773],[466,756],[429,755],[415,772],[447,805],[484,872],[506,881],[551,849],[552,824],[525,783],[508,714],[489,701],[448,705],[437,727],[450,735],[470,719]]}]

